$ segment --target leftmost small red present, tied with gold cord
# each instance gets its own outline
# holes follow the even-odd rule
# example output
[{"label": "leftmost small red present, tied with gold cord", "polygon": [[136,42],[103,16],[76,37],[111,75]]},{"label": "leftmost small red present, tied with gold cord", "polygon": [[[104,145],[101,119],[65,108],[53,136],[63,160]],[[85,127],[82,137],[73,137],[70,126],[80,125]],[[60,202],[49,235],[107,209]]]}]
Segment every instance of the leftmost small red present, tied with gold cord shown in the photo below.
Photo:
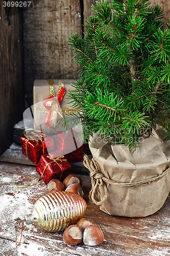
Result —
[{"label": "leftmost small red present, tied with gold cord", "polygon": [[28,157],[34,164],[37,164],[42,155],[54,151],[54,140],[41,131],[30,129],[26,137],[21,137],[22,154]]}]

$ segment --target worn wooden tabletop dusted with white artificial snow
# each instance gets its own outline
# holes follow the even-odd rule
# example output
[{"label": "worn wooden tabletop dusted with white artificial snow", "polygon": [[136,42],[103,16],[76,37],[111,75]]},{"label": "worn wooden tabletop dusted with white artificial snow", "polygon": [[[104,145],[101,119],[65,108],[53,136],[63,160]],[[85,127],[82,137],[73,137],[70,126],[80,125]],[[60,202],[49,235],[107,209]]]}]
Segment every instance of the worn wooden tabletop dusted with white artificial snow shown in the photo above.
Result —
[{"label": "worn wooden tabletop dusted with white artificial snow", "polygon": [[17,187],[33,184],[39,175],[34,166],[0,163],[0,256],[75,256],[75,255],[170,255],[170,198],[156,214],[145,218],[109,216],[98,206],[89,203],[90,178],[83,180],[84,199],[87,203],[85,218],[91,219],[103,230],[105,240],[99,246],[83,243],[69,246],[63,243],[63,231],[46,232],[36,225],[24,224],[21,244],[21,220],[30,214],[35,201],[47,193],[41,182],[32,187]]}]

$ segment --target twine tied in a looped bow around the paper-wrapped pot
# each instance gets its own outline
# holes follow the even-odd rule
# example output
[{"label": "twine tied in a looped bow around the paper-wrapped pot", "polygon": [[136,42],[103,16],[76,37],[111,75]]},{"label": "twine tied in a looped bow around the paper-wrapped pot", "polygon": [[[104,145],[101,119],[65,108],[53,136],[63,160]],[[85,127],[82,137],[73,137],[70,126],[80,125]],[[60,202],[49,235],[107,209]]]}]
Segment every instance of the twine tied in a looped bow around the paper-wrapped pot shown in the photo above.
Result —
[{"label": "twine tied in a looped bow around the paper-wrapped pot", "polygon": [[[87,155],[84,156],[83,164],[87,169],[89,169],[89,172],[90,172],[91,190],[89,193],[89,200],[96,205],[101,205],[108,196],[108,189],[107,189],[106,183],[115,185],[115,186],[121,186],[121,187],[137,187],[137,186],[147,185],[163,178],[170,169],[170,167],[168,167],[160,175],[153,178],[145,179],[142,181],[124,183],[124,182],[114,181],[106,178],[103,174],[100,173],[99,164],[93,158],[90,160]],[[103,186],[104,188],[103,197],[99,189],[100,186]]]}]

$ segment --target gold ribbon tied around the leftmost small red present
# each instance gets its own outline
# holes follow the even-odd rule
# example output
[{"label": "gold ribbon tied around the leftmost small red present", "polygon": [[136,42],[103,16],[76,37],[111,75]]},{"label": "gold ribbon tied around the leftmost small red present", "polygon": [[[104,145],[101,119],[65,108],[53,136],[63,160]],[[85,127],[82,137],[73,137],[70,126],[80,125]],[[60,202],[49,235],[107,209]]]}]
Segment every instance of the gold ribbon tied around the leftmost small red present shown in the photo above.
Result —
[{"label": "gold ribbon tied around the leftmost small red present", "polygon": [[[26,134],[26,131],[29,131],[28,134]],[[30,134],[31,133],[31,134]],[[41,135],[37,134],[37,133],[41,133]],[[41,130],[37,130],[37,129],[26,129],[24,132],[23,132],[23,135],[28,139],[26,141],[26,155],[27,155],[27,158],[28,158],[28,147],[27,147],[27,144],[29,142],[29,140],[36,140],[35,138],[39,138],[39,140],[42,142],[42,150],[43,150],[43,155],[44,155],[44,142],[43,140],[41,140],[41,138],[44,137],[44,134],[42,134],[42,131]],[[38,140],[37,141],[37,145],[38,145]]]}]

